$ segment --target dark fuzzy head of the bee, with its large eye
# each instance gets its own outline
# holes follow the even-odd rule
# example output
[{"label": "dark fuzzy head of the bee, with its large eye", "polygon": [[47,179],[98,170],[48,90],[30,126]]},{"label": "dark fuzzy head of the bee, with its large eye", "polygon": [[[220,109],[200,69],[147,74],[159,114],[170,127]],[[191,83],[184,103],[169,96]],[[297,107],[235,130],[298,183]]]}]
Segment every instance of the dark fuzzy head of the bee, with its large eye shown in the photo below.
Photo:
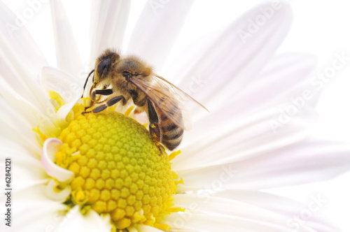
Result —
[{"label": "dark fuzzy head of the bee, with its large eye", "polygon": [[119,59],[119,54],[110,49],[105,50],[102,55],[96,59],[94,79],[92,80],[94,87],[111,77],[112,67],[119,61]]}]

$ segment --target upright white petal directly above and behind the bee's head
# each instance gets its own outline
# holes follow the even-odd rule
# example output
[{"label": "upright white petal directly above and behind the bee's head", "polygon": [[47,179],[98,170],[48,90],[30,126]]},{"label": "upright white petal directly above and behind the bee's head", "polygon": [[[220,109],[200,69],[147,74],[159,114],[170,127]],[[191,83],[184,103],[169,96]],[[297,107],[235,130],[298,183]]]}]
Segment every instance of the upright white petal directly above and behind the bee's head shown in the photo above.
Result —
[{"label": "upright white petal directly above and behind the bee's head", "polygon": [[91,51],[90,66],[106,48],[121,48],[127,17],[130,11],[130,1],[106,0],[92,1],[91,7]]}]

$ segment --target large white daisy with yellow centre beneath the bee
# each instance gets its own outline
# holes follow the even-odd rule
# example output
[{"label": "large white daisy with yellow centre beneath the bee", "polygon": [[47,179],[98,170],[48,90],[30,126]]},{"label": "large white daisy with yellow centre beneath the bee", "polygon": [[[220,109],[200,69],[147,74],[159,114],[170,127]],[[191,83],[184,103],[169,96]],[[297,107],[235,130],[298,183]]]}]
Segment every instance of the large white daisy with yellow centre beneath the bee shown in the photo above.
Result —
[{"label": "large white daisy with yellow centre beneath the bee", "polygon": [[[1,231],[337,231],[316,214],[295,220],[305,206],[260,191],[325,180],[350,165],[349,145],[310,136],[318,92],[298,97],[314,59],[274,55],[290,27],[287,3],[249,10],[165,71],[211,110],[194,115],[181,152],[169,156],[129,111],[81,115],[83,61],[62,4],[50,3],[58,68],[24,27],[11,27],[16,15],[0,3],[0,160],[5,168],[11,159],[13,180]],[[157,14],[148,3],[127,51],[160,68],[192,1],[170,1]],[[129,8],[93,1],[90,65],[104,48],[122,48]],[[253,34],[261,8],[273,17]],[[300,109],[294,104],[281,122],[290,98]]]}]

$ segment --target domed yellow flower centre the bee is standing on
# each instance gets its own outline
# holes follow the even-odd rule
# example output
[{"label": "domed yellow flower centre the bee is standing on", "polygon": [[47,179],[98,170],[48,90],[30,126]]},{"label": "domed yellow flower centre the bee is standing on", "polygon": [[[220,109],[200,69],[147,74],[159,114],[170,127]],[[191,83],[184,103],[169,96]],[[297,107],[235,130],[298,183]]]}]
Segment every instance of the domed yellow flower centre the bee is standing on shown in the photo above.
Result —
[{"label": "domed yellow flower centre the bee is standing on", "polygon": [[169,162],[176,154],[161,155],[145,126],[126,115],[107,110],[81,115],[81,108],[73,108],[73,120],[58,136],[62,145],[55,162],[74,173],[65,204],[109,214],[117,231],[134,224],[170,229],[160,221],[181,210],[171,208],[181,182]]}]

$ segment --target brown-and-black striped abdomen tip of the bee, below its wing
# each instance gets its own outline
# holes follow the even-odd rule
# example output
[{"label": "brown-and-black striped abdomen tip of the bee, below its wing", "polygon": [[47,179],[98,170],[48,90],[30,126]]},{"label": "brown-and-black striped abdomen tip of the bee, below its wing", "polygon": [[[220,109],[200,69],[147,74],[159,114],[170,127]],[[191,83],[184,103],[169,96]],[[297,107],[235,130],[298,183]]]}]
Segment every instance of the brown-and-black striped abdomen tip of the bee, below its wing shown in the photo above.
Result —
[{"label": "brown-and-black striped abdomen tip of the bee, below its wing", "polygon": [[[164,124],[164,125],[162,125]],[[162,133],[162,144],[169,150],[174,150],[181,143],[183,137],[183,129],[172,122],[162,122],[160,124],[160,131]]]}]

